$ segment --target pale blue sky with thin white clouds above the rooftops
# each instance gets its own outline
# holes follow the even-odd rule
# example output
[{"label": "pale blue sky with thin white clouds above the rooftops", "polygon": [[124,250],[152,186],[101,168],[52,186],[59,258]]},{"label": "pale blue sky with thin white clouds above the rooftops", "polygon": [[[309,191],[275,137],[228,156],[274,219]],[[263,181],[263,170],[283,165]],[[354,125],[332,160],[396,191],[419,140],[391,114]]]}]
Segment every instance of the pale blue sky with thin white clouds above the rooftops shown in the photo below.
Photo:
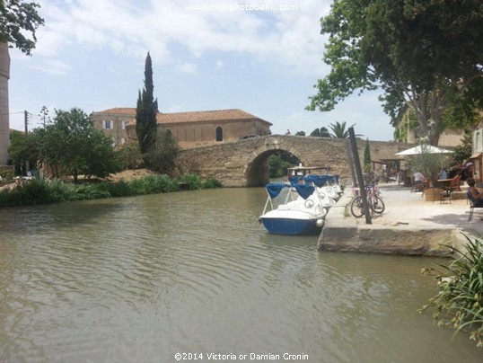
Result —
[{"label": "pale blue sky with thin white clouds above the rooftops", "polygon": [[162,112],[242,109],[273,123],[274,134],[346,121],[371,140],[392,139],[378,93],[351,96],[330,112],[304,111],[329,72],[319,21],[330,1],[38,2],[45,26],[32,56],[10,50],[11,128],[24,128],[24,110],[33,115],[29,128],[40,127],[44,105],[49,115],[136,107],[149,51]]}]

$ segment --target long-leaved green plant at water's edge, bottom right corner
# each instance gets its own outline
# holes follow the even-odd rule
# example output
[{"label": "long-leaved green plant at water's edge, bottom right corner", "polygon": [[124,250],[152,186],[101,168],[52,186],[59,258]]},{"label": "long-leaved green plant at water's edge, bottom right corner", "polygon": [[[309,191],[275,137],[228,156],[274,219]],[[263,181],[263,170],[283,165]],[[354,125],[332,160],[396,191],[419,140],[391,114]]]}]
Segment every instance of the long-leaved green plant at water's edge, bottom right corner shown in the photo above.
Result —
[{"label": "long-leaved green plant at water's edge, bottom right corner", "polygon": [[453,261],[439,265],[443,270],[423,270],[424,274],[436,276],[441,282],[438,294],[430,298],[420,312],[432,308],[438,325],[456,332],[469,332],[470,339],[483,347],[483,243],[481,239],[466,238],[464,251],[454,250]]}]

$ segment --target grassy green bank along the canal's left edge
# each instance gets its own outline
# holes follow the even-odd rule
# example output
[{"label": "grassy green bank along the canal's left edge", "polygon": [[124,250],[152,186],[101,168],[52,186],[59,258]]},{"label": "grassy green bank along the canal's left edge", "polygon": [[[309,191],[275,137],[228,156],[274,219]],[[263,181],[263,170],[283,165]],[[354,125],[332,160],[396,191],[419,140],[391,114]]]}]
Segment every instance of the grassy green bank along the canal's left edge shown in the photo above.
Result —
[{"label": "grassy green bank along the canal's left edge", "polygon": [[165,193],[180,190],[220,188],[213,179],[202,181],[198,175],[186,174],[180,178],[167,175],[148,175],[129,182],[90,182],[74,184],[57,179],[32,181],[23,186],[0,190],[0,208],[59,203],[75,200],[132,197],[136,195]]}]

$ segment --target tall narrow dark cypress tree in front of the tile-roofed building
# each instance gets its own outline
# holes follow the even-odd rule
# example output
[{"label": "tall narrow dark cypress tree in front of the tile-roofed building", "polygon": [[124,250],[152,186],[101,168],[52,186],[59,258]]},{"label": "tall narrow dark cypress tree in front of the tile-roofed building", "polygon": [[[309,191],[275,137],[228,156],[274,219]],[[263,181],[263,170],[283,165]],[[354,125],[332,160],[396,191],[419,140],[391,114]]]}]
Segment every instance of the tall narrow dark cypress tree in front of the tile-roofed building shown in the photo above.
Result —
[{"label": "tall narrow dark cypress tree in front of the tile-roofed building", "polygon": [[[145,59],[145,87],[139,91],[136,105],[136,135],[141,154],[154,152],[156,146],[158,101],[154,100],[153,64],[149,52]],[[149,158],[145,156],[145,163]],[[147,165],[149,166],[149,165]]]}]

